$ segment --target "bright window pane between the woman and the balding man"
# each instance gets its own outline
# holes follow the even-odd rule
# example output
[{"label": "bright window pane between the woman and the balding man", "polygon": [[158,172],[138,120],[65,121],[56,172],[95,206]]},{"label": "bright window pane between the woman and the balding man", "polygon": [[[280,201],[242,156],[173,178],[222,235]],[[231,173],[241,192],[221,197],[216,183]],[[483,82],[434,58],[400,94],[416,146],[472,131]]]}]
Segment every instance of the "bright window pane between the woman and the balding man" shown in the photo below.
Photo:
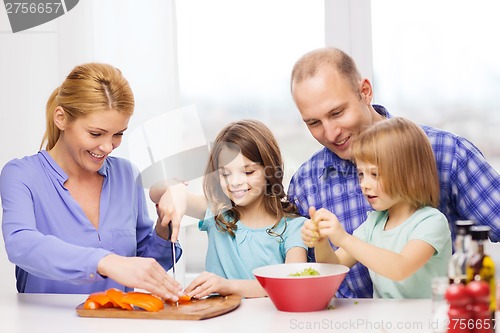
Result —
[{"label": "bright window pane between the woman and the balding man", "polygon": [[319,149],[289,81],[295,61],[324,46],[324,2],[182,0],[176,6],[181,104],[196,106],[208,142],[228,122],[263,121],[291,177]]}]

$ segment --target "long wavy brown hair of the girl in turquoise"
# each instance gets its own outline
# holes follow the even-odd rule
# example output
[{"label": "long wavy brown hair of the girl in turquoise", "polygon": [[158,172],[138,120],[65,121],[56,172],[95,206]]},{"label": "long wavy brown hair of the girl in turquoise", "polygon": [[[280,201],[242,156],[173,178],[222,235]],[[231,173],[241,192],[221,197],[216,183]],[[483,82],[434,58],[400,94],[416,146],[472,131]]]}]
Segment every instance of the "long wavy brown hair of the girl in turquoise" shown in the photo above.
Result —
[{"label": "long wavy brown hair of the girl in turquoise", "polygon": [[[203,189],[219,230],[234,236],[240,211],[229,201],[220,185],[219,156],[229,148],[235,156],[241,153],[252,162],[264,168],[266,190],[264,206],[267,212],[276,216],[273,229],[283,217],[297,213],[296,206],[287,200],[283,187],[283,159],[278,143],[269,128],[257,120],[241,120],[226,125],[217,135],[211,149],[205,172]],[[269,233],[269,232],[268,232]],[[273,234],[273,233],[270,233]],[[277,235],[279,236],[279,235]]]}]

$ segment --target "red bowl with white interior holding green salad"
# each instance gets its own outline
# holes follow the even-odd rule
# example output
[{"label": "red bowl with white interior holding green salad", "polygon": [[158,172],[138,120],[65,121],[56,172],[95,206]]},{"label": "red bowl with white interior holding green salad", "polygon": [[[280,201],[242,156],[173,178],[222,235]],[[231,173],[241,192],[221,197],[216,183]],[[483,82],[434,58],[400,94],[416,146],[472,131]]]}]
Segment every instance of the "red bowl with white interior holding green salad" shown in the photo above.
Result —
[{"label": "red bowl with white interior holding green salad", "polygon": [[[306,268],[317,276],[290,276]],[[335,296],[349,268],[320,263],[290,263],[259,267],[253,274],[280,311],[309,312],[324,310]]]}]

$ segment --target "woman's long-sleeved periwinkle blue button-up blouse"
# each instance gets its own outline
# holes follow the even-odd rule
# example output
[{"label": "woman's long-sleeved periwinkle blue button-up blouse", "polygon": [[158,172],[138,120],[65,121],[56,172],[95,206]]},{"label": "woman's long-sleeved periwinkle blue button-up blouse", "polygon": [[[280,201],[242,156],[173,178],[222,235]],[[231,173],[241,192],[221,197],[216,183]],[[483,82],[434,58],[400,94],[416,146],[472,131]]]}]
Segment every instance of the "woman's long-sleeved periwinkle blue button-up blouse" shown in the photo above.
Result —
[{"label": "woman's long-sleeved periwinkle blue button-up blouse", "polygon": [[110,253],[152,257],[165,269],[172,266],[171,242],[153,232],[138,170],[108,156],[99,173],[104,182],[96,229],[64,187],[68,176],[47,151],[4,166],[2,231],[19,292],[130,290],[97,273],[99,260]]}]

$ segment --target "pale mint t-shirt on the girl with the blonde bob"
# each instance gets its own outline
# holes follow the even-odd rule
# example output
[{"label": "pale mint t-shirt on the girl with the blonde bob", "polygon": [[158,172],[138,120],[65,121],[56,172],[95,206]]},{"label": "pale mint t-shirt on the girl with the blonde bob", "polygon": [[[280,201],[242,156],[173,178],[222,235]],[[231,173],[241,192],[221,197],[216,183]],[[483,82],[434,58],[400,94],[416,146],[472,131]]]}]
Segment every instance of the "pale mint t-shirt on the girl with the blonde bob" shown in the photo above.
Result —
[{"label": "pale mint t-shirt on the girl with the blonde bob", "polygon": [[393,281],[371,269],[373,296],[376,298],[431,298],[433,277],[448,275],[451,259],[451,232],[443,213],[432,207],[418,209],[397,227],[384,230],[387,211],[370,212],[366,221],[353,235],[376,247],[400,253],[408,241],[422,240],[435,252],[418,271],[402,281]]}]

